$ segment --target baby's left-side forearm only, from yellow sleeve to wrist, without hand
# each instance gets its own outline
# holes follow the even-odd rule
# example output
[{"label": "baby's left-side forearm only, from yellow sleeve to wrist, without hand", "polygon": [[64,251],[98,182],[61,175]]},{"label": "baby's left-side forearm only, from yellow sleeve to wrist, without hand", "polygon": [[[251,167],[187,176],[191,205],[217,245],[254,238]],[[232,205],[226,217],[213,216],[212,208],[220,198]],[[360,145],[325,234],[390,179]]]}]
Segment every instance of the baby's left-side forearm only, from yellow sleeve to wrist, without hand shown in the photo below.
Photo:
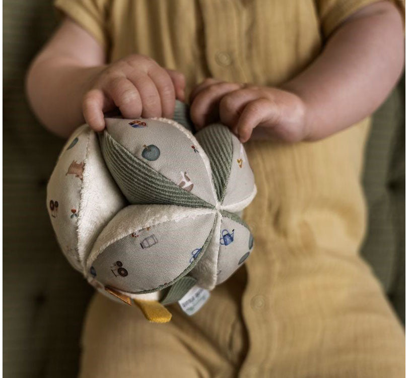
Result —
[{"label": "baby's left-side forearm only, from yellow sleeve to wrist, without hand", "polygon": [[84,122],[85,91],[104,63],[105,51],[99,43],[65,19],[33,60],[26,77],[31,107],[47,129],[67,137]]}]

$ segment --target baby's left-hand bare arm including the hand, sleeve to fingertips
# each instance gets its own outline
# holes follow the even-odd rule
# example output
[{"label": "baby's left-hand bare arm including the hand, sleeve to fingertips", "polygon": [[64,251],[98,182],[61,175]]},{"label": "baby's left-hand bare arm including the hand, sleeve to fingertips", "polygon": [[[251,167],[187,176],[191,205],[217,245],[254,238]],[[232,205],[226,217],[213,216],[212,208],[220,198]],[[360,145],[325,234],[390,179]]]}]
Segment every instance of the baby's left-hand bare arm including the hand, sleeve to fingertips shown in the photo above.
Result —
[{"label": "baby's left-hand bare arm including the hand, sleeve to fingertips", "polygon": [[34,59],[26,82],[38,118],[63,137],[84,121],[102,130],[103,112],[116,106],[127,118],[171,117],[184,86],[182,74],[143,55],[106,65],[102,46],[69,18]]}]

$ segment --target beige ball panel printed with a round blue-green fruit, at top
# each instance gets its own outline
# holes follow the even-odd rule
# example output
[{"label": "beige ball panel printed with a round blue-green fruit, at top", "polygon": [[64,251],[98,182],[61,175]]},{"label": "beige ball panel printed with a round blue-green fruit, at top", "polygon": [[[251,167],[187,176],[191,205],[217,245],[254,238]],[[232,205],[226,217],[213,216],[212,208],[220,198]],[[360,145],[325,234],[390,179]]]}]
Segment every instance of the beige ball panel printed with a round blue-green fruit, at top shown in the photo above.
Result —
[{"label": "beige ball panel printed with a round blue-green fruit, at top", "polygon": [[198,142],[182,125],[156,119],[107,118],[108,133],[132,155],[215,206],[210,164]]}]

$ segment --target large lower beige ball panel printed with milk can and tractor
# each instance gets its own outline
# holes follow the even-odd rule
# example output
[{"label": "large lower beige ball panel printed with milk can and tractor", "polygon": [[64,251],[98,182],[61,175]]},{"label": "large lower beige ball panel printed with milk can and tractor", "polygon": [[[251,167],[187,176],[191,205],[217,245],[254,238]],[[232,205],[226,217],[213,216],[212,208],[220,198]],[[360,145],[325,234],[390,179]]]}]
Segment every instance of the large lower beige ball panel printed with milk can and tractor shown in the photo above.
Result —
[{"label": "large lower beige ball panel printed with milk can and tractor", "polygon": [[[133,205],[137,209],[140,205]],[[166,213],[167,205],[156,205]],[[140,206],[142,208],[142,206]],[[147,207],[145,207],[146,209]],[[177,210],[177,212],[182,212]],[[148,211],[148,209],[146,210]],[[146,212],[145,211],[145,212]],[[114,229],[123,228],[115,219],[104,230],[113,242],[103,242],[102,250],[92,252],[89,273],[104,286],[127,293],[155,291],[167,287],[177,278],[184,276],[205,253],[216,212],[192,214],[189,216],[156,223],[140,229],[135,221],[133,232],[118,239]],[[146,218],[146,214],[141,217]],[[127,224],[129,228],[131,224]],[[112,230],[110,230],[112,228]],[[101,236],[104,237],[104,236]],[[117,240],[118,239],[118,240]],[[103,245],[108,244],[106,247]],[[96,245],[99,245],[98,241]]]}]

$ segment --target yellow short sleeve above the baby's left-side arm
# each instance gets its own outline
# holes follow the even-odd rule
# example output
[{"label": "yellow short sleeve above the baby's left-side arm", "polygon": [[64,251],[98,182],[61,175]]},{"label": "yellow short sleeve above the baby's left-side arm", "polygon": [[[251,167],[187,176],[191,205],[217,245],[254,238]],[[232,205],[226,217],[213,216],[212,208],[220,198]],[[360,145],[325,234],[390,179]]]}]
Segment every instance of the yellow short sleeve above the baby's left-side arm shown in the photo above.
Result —
[{"label": "yellow short sleeve above the baby's left-side arm", "polygon": [[54,0],[58,13],[77,22],[105,48],[109,46],[108,12],[110,0]]}]

